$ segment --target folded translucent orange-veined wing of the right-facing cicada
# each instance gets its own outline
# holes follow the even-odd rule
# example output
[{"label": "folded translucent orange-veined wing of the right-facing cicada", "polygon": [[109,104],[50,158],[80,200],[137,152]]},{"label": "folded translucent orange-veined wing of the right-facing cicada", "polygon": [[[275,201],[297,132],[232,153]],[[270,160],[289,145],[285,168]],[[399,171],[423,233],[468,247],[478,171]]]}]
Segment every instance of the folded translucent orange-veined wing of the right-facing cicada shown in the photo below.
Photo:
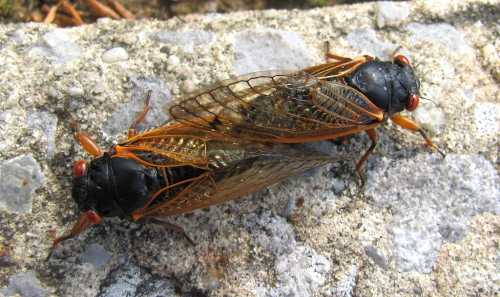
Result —
[{"label": "folded translucent orange-veined wing of the right-facing cicada", "polygon": [[226,81],[176,102],[169,111],[173,119],[192,127],[271,142],[335,136],[383,118],[357,90],[303,71]]}]

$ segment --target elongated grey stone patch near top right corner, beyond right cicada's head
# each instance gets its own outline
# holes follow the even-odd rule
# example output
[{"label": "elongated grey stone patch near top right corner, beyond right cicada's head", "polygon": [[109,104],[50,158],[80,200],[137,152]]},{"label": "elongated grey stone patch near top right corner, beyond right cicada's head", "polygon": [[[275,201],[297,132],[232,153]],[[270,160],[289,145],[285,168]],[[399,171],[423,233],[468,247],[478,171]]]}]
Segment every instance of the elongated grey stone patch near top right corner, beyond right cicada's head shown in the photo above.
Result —
[{"label": "elongated grey stone patch near top right corner, beyond right cicada's head", "polygon": [[450,24],[419,24],[410,23],[406,26],[412,35],[412,43],[430,42],[446,47],[450,52],[459,54],[473,54],[473,50],[462,32]]}]

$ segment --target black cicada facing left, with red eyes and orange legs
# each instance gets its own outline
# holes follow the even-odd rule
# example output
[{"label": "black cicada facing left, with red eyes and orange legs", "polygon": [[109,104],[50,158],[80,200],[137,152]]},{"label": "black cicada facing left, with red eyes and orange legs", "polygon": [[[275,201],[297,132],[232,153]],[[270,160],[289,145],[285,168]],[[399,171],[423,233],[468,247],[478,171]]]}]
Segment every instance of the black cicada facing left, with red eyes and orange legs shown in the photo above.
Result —
[{"label": "black cicada facing left, with red eyes and orange legs", "polygon": [[182,214],[245,196],[340,158],[182,123],[137,133],[135,127],[148,109],[149,103],[127,139],[106,152],[75,125],[75,138],[94,159],[74,163],[72,196],[81,215],[70,232],[55,239],[54,247],[103,217],[140,221]]}]

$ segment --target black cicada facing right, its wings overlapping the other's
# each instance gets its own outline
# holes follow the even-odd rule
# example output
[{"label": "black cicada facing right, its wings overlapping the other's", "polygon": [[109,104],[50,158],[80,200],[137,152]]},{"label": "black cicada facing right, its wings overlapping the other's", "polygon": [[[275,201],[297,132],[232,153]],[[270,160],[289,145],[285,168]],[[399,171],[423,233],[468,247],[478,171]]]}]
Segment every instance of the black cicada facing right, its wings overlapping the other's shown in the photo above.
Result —
[{"label": "black cicada facing right, its wings overlapping the other's", "polygon": [[301,71],[225,81],[176,102],[170,114],[197,129],[265,143],[332,140],[364,131],[371,145],[357,162],[360,177],[378,142],[375,129],[389,119],[420,133],[444,156],[418,123],[400,114],[415,110],[420,100],[420,82],[407,57],[327,58],[332,61]]}]

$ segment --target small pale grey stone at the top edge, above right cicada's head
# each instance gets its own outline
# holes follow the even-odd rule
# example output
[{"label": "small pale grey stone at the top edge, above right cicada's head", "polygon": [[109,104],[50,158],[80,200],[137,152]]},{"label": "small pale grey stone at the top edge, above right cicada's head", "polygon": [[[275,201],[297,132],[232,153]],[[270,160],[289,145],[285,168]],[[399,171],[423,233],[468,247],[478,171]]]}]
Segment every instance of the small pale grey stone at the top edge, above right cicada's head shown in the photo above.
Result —
[{"label": "small pale grey stone at the top edge, above right cicada's head", "polygon": [[400,25],[410,15],[408,2],[380,1],[377,3],[377,27]]}]

